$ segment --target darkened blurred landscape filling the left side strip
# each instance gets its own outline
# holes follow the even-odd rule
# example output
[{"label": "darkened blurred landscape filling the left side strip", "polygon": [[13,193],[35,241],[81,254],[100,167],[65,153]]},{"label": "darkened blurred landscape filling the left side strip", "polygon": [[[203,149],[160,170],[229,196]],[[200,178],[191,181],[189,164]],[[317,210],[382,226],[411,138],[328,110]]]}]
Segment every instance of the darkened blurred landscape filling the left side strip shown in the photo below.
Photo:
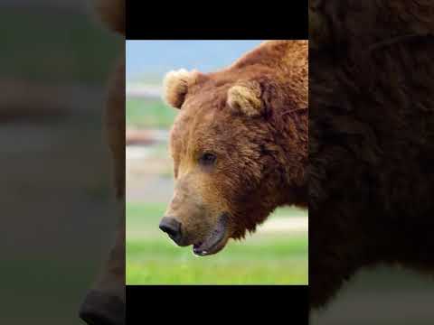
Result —
[{"label": "darkened blurred landscape filling the left side strip", "polygon": [[2,1],[1,324],[83,324],[118,223],[102,132],[125,51],[93,1]]}]

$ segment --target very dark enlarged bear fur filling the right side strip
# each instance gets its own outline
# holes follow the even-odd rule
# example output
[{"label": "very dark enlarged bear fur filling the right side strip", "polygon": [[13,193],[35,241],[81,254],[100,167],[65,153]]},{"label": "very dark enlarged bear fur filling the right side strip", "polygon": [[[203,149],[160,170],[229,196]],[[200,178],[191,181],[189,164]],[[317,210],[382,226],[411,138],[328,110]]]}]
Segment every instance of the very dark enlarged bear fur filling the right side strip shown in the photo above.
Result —
[{"label": "very dark enlarged bear fur filling the right side strip", "polygon": [[309,285],[320,307],[366,265],[434,272],[434,5],[312,3]]}]

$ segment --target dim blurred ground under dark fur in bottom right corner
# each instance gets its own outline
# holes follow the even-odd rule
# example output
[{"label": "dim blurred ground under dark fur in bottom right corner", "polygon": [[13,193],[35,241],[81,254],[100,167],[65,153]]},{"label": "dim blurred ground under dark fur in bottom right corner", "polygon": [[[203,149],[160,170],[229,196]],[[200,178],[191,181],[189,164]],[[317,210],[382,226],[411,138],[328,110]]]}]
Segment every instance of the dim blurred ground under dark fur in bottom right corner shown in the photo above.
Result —
[{"label": "dim blurred ground under dark fur in bottom right corner", "polygon": [[430,325],[434,322],[434,278],[396,265],[361,270],[311,325]]}]

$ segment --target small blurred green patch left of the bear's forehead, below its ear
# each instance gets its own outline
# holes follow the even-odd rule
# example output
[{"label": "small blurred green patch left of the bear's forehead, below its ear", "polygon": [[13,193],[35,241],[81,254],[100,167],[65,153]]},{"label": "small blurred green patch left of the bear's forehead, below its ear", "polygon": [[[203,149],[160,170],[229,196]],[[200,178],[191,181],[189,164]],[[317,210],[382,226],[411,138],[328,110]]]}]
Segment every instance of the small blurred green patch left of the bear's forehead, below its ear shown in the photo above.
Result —
[{"label": "small blurred green patch left of the bear's forehead, below its ear", "polygon": [[161,100],[127,99],[126,123],[135,127],[169,128],[176,111]]}]

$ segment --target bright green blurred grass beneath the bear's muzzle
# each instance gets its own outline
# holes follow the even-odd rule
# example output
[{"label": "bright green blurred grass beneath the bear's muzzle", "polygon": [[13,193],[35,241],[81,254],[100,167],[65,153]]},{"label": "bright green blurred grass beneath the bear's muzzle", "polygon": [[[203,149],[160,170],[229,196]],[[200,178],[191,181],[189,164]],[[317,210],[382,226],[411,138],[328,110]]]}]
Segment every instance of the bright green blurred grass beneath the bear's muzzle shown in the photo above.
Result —
[{"label": "bright green blurred grass beneath the bear's muzzle", "polygon": [[[160,204],[127,203],[127,284],[307,283],[307,234],[255,234],[197,257],[158,229],[164,211]],[[281,209],[271,218],[296,214],[302,212]]]}]

